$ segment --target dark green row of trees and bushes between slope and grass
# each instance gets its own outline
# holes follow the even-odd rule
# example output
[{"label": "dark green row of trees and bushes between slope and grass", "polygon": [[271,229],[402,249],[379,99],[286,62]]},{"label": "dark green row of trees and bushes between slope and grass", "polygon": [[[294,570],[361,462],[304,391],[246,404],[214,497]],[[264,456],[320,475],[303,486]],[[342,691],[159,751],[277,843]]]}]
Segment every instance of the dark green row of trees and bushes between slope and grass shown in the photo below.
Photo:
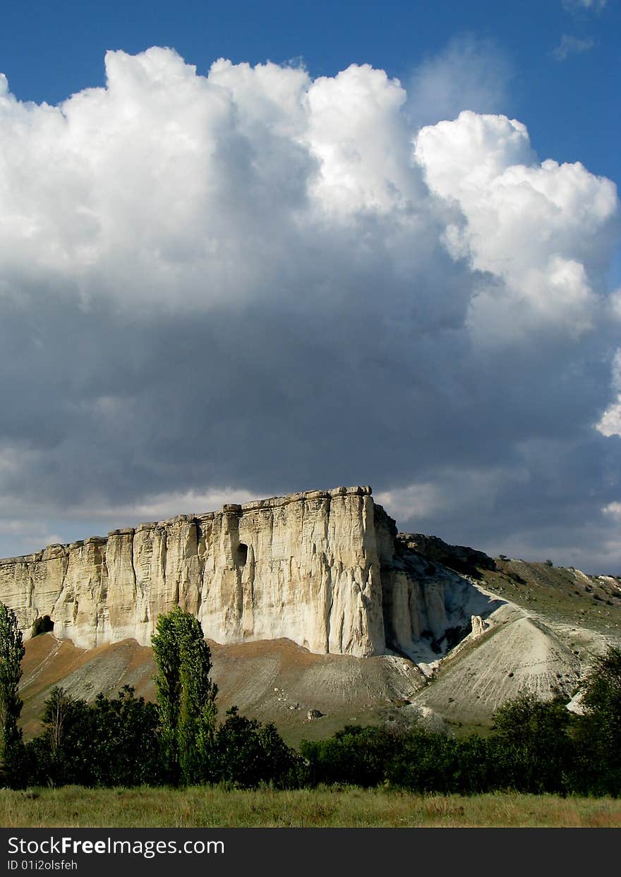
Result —
[{"label": "dark green row of trees and bushes between slope and grass", "polygon": [[388,726],[347,725],[299,752],[275,725],[239,714],[218,723],[211,652],[196,617],[175,608],[152,637],[157,702],[125,686],[86,702],[54,688],[42,731],[18,727],[25,649],[13,612],[0,603],[0,784],[237,788],[385,786],[418,793],[496,789],[621,795],[621,649],[610,647],[582,685],[582,714],[560,699],[523,694],[496,711],[487,737],[454,738]]}]

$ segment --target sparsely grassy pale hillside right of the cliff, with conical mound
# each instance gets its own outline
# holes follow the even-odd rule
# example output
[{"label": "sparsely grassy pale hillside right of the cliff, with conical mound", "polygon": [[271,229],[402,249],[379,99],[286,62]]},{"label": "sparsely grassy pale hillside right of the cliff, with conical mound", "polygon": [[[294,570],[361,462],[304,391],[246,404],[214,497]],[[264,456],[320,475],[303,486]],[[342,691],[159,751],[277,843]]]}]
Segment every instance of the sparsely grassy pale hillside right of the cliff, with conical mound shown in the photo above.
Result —
[{"label": "sparsely grassy pale hillside right of the cliff, with conical mound", "polygon": [[471,581],[506,605],[412,697],[458,735],[489,731],[494,711],[520,690],[569,699],[594,655],[621,642],[621,581],[614,577],[496,558],[473,569]]}]

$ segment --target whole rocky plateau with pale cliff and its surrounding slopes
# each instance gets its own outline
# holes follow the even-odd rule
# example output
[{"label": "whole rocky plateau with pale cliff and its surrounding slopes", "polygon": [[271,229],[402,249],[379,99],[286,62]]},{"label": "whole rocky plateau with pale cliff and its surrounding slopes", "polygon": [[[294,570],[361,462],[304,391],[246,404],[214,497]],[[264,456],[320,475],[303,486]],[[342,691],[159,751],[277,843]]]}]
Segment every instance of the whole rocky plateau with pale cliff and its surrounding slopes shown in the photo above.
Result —
[{"label": "whole rocky plateau with pale cliff and its surrounding slopes", "polygon": [[154,696],[157,617],[191,611],[223,706],[295,739],[345,722],[485,724],[575,693],[618,640],[621,583],[397,533],[368,487],[274,497],[0,560],[26,639],[25,731],[49,690]]}]

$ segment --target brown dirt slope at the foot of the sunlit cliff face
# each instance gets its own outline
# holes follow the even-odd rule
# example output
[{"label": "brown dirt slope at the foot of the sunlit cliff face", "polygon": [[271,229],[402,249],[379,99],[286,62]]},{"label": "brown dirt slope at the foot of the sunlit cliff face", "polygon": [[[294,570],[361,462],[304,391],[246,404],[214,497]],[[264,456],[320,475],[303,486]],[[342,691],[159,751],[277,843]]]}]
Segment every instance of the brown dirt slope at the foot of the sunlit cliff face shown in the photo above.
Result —
[{"label": "brown dirt slope at the foot of the sunlit cliff face", "polygon": [[[290,742],[329,736],[351,721],[378,721],[383,709],[409,701],[424,684],[418,668],[400,657],[317,655],[289,639],[210,645],[220,715],[234,703],[247,716],[275,722]],[[85,651],[46,633],[26,643],[23,670],[26,736],[39,729],[54,685],[87,700],[99,691],[114,695],[124,685],[155,697],[151,649],[132,639]],[[310,709],[324,716],[309,720]]]}]

